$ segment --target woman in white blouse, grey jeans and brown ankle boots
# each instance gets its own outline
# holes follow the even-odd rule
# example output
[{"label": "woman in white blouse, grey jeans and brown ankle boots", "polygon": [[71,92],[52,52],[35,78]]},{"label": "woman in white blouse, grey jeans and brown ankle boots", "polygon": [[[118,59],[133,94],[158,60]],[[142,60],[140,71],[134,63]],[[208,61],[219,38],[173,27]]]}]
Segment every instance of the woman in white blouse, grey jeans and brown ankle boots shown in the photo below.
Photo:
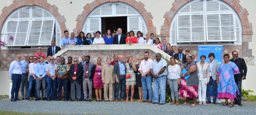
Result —
[{"label": "woman in white blouse, grey jeans and brown ankle boots", "polygon": [[176,97],[176,105],[179,105],[179,92],[178,92],[178,85],[180,84],[180,73],[181,68],[179,65],[175,64],[174,57],[171,57],[171,65],[167,67],[167,84],[171,88],[171,95],[172,95],[172,103],[175,103],[174,95]]}]

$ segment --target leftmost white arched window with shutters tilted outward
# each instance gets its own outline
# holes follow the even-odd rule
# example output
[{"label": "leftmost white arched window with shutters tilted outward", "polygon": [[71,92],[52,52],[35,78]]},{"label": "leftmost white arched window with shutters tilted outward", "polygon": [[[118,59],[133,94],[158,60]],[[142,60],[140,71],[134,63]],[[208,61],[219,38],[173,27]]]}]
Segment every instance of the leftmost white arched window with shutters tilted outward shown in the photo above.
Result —
[{"label": "leftmost white arched window with shutters tilted outward", "polygon": [[[2,32],[6,46],[50,46],[51,41],[60,45],[60,26],[56,18],[39,6],[24,6],[12,12],[6,19]],[[9,37],[13,36],[14,40]]]}]

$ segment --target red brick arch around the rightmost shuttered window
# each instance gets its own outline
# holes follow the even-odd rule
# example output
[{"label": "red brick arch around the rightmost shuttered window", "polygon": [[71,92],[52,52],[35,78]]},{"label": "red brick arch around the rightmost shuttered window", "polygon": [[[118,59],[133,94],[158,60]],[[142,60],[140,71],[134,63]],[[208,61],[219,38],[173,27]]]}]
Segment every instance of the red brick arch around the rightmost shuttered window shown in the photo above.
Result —
[{"label": "red brick arch around the rightmost shuttered window", "polygon": [[[192,0],[175,0],[172,4],[172,8],[170,9],[169,12],[166,12],[164,15],[165,21],[164,25],[161,26],[161,36],[170,36],[170,28],[171,28],[171,22],[173,19],[173,16],[179,11],[179,9],[187,4],[187,2],[190,2]],[[226,4],[230,5],[238,14],[241,22],[242,22],[242,29],[243,35],[248,35],[248,34],[253,34],[252,33],[252,24],[249,23],[247,15],[249,13],[247,12],[247,9],[242,8],[242,6],[239,4],[239,0],[221,0],[225,2]]]}]

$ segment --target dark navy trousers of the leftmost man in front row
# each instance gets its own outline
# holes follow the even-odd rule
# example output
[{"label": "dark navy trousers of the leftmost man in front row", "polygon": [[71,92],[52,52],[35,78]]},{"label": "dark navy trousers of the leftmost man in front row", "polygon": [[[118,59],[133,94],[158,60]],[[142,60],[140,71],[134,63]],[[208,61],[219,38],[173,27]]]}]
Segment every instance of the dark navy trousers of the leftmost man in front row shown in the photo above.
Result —
[{"label": "dark navy trousers of the leftmost man in front row", "polygon": [[14,93],[15,93],[15,99],[18,98],[20,83],[21,83],[21,75],[12,74],[11,99],[14,99]]}]

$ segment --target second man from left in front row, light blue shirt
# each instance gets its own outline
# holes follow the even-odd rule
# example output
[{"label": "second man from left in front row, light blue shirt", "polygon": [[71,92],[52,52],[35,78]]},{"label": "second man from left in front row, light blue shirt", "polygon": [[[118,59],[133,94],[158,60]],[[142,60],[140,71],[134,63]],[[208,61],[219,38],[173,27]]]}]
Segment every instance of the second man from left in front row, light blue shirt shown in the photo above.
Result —
[{"label": "second man from left in front row, light blue shirt", "polygon": [[[24,100],[24,86],[26,87],[26,92],[25,92],[25,98],[27,97],[27,89],[28,89],[28,73],[26,73],[26,66],[28,64],[28,55],[24,54],[24,60],[21,61],[21,66],[22,66],[22,75],[21,75],[21,89],[20,89],[20,94],[21,94],[21,100]],[[27,99],[27,98],[26,98]]]}]

